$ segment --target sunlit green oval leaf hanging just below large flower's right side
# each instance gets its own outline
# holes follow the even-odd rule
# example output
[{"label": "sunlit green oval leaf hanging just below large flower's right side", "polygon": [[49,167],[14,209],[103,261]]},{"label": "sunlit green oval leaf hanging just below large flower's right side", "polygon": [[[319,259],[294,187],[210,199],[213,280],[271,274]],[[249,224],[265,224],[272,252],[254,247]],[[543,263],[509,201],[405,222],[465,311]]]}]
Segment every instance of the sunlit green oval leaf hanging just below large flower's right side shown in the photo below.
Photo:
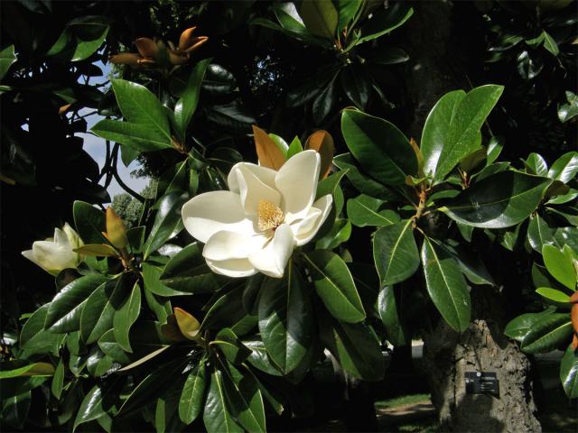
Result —
[{"label": "sunlit green oval leaf hanging just below large flower's right side", "polygon": [[357,323],[366,317],[350,270],[339,255],[317,250],[303,255],[303,258],[315,290],[331,316],[347,323]]}]

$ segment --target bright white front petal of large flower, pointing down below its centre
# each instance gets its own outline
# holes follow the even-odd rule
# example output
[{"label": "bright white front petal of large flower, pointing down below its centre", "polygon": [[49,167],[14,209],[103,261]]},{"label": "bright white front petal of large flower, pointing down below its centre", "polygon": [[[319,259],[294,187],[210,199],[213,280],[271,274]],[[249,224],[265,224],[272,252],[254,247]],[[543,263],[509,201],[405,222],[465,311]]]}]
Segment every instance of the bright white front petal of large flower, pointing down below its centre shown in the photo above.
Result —
[{"label": "bright white front petal of large flower, pointing down below its centre", "polygon": [[288,224],[275,229],[275,237],[262,250],[249,255],[249,261],[259,272],[269,277],[281,278],[293,253],[295,238]]}]

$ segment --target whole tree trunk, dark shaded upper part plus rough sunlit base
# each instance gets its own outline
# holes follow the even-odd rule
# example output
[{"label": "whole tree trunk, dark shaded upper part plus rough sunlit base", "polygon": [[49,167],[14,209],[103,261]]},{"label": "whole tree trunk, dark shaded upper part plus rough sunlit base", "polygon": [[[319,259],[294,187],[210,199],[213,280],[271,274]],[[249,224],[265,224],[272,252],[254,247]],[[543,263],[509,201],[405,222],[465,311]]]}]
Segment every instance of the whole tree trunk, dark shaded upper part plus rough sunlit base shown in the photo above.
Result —
[{"label": "whole tree trunk, dark shaded upper part plus rough sunlit base", "polygon": [[[471,49],[479,43],[475,23],[460,18],[472,5],[440,1],[414,2],[413,7],[415,14],[402,28],[401,41],[406,41],[410,56],[406,107],[413,117],[408,119],[408,129],[419,140],[435,102],[450,90],[471,88],[461,65],[480,51]],[[454,32],[460,21],[471,28]],[[483,287],[472,289],[471,298],[473,322],[466,332],[459,335],[440,319],[433,332],[424,336],[424,368],[442,430],[541,431],[530,363],[502,332],[506,315],[501,295]],[[497,373],[499,397],[466,394],[467,371]]]}]

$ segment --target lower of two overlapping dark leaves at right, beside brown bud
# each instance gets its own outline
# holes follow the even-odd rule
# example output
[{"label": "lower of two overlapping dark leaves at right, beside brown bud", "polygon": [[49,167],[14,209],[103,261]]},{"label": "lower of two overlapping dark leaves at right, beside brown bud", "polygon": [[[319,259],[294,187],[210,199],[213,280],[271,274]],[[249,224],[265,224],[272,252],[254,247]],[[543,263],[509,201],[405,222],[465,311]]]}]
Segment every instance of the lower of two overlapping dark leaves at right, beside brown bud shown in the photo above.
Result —
[{"label": "lower of two overlapping dark leaves at right, beside brown bud", "polygon": [[520,348],[528,354],[545,354],[568,341],[572,331],[572,322],[567,313],[544,315],[524,336]]}]

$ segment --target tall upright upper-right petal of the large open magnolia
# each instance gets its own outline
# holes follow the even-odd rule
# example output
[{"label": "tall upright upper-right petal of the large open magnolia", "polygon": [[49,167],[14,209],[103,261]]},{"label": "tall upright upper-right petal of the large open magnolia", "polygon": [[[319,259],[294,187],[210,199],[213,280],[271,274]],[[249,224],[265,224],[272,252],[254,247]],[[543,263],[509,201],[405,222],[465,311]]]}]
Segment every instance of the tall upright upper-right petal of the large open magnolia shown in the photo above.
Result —
[{"label": "tall upright upper-right petal of the large open magnolia", "polygon": [[275,176],[275,185],[283,196],[285,221],[303,218],[317,191],[321,157],[315,151],[299,152],[289,158]]}]

